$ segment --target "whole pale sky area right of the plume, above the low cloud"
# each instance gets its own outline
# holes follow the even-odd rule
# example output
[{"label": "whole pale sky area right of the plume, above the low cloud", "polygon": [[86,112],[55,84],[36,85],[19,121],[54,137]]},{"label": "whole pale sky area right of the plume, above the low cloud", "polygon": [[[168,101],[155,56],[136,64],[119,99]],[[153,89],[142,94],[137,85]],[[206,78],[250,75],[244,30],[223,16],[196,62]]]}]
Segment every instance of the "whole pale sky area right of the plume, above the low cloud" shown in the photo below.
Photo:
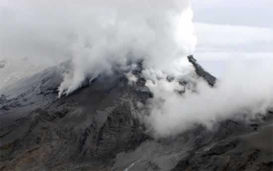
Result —
[{"label": "whole pale sky area right of the plume, above the low cloud", "polygon": [[273,0],[192,0],[196,57],[217,76],[239,59],[273,60]]}]

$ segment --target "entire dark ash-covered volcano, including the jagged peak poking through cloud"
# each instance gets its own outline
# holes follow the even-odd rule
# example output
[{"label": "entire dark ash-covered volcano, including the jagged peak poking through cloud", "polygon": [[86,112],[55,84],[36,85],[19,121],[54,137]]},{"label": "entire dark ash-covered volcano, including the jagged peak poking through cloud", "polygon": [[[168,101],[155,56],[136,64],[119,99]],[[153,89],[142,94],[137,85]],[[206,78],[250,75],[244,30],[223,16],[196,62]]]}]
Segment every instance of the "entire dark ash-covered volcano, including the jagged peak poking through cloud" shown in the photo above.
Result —
[{"label": "entire dark ash-covered volcano, including the jagged peak poking through cloud", "polygon": [[[189,61],[213,86],[216,78]],[[60,67],[6,87],[0,170],[272,170],[271,113],[264,121],[225,120],[209,130],[193,125],[176,137],[153,139],[137,105],[152,94],[134,73],[136,84],[117,72],[60,99]]]}]

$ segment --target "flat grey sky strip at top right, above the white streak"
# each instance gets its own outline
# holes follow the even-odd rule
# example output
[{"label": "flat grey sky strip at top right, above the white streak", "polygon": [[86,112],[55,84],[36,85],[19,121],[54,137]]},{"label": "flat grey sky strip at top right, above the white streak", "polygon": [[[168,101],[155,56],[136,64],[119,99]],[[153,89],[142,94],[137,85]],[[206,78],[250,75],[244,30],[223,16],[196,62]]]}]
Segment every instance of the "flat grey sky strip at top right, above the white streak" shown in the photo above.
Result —
[{"label": "flat grey sky strip at top right, above the white streak", "polygon": [[273,28],[273,0],[192,0],[195,22]]}]

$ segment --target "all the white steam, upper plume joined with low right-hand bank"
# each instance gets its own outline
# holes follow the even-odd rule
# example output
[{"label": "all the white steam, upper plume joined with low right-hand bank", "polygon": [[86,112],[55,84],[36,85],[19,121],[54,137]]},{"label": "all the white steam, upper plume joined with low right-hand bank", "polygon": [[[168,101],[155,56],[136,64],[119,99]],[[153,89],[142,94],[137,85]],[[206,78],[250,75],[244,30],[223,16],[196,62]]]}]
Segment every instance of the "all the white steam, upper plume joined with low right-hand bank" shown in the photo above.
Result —
[{"label": "all the white steam, upper plume joined with low right-hand bank", "polygon": [[[214,89],[198,79],[196,92],[178,93],[185,89],[178,80],[193,71],[185,58],[197,43],[192,18],[190,0],[2,0],[0,60],[26,57],[55,65],[70,59],[59,97],[86,79],[141,60],[154,94],[144,122],[157,136],[180,133],[195,122],[209,125],[265,110],[273,72],[264,65],[233,67]],[[175,80],[166,81],[169,75]],[[132,73],[128,77],[137,79]]]}]

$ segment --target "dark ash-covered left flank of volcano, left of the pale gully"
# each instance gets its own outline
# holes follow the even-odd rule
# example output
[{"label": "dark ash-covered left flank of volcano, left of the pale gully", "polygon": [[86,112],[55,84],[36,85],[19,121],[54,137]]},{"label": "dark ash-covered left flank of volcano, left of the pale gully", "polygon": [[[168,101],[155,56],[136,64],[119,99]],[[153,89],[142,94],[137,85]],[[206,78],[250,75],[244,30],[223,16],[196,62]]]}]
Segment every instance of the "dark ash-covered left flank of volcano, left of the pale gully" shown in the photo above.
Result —
[{"label": "dark ash-covered left flank of volcano, left of the pale gully", "polygon": [[101,76],[56,99],[59,76],[41,74],[26,91],[1,96],[1,170],[58,170],[75,161],[103,169],[150,139],[136,115],[136,103],[150,98],[145,80],[130,85],[122,73]]}]

